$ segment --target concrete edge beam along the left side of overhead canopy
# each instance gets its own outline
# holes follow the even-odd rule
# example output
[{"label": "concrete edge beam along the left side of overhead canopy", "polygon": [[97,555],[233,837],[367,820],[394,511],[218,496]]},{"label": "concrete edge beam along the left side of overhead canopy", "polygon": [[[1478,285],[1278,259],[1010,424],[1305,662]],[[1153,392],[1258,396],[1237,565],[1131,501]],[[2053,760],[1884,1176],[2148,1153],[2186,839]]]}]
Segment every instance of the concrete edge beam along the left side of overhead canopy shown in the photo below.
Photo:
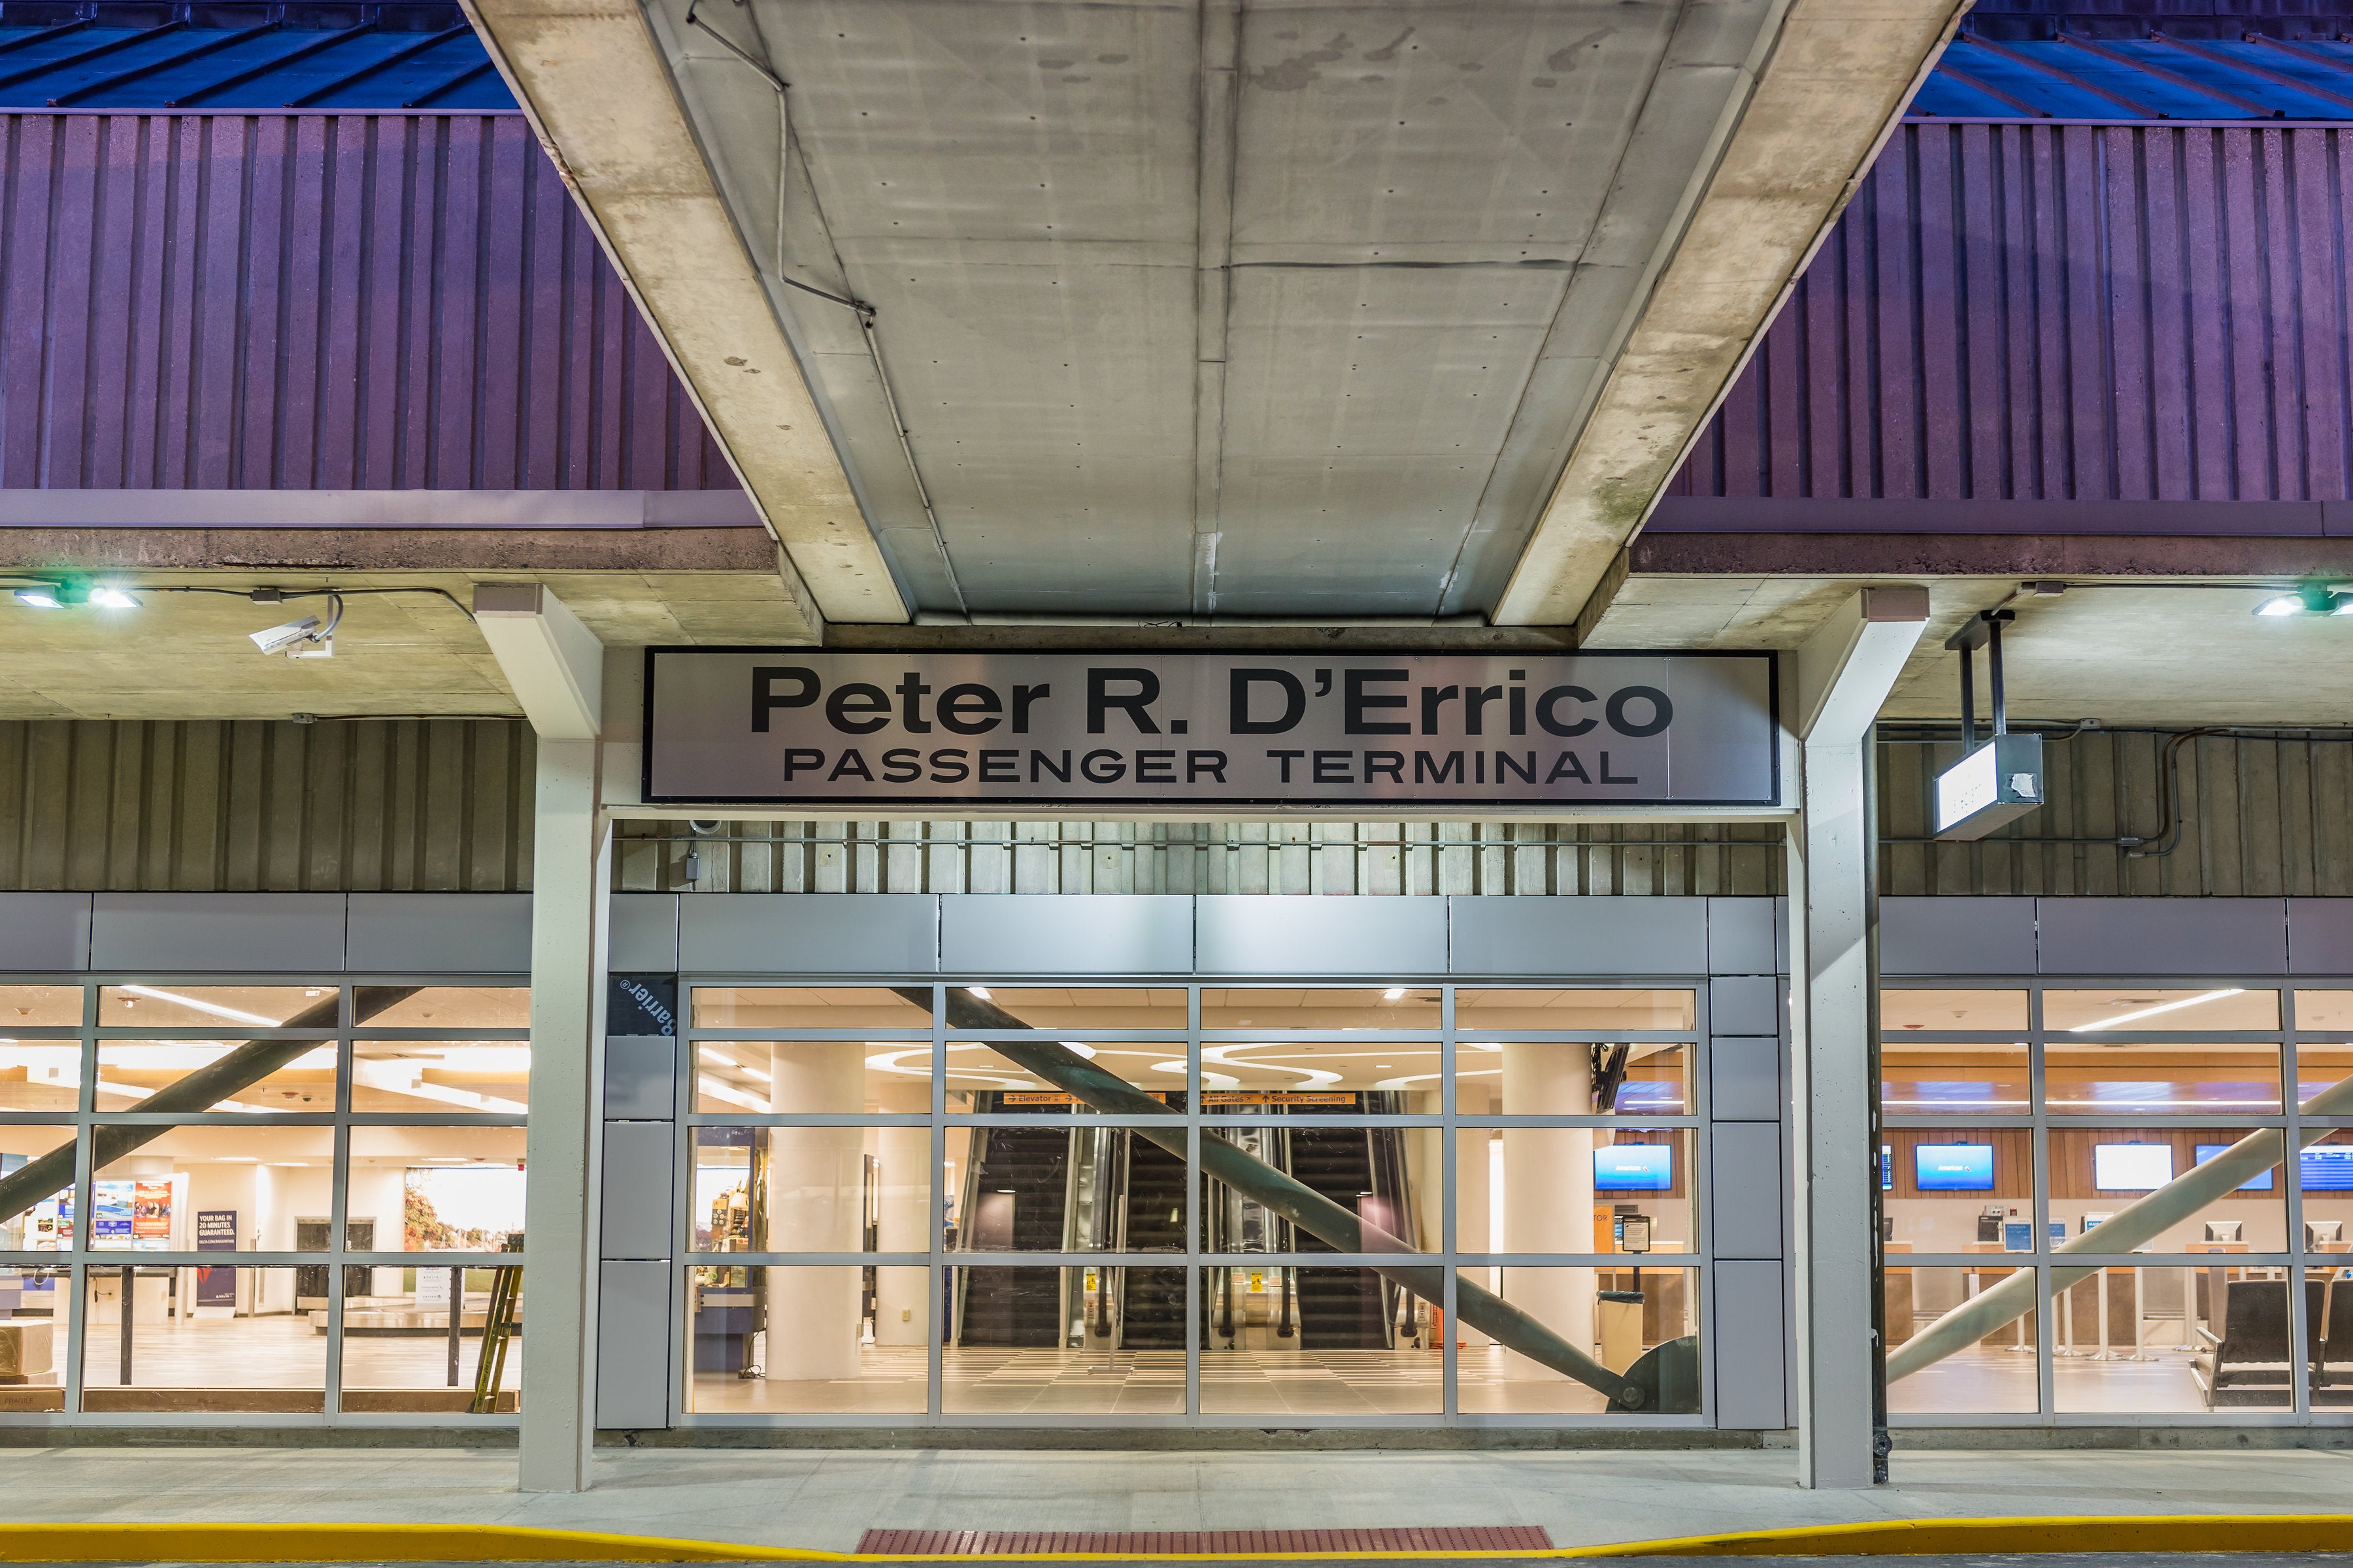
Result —
[{"label": "concrete edge beam along the left side of overhead canopy", "polygon": [[816,607],[906,621],[645,14],[628,0],[461,5]]}]

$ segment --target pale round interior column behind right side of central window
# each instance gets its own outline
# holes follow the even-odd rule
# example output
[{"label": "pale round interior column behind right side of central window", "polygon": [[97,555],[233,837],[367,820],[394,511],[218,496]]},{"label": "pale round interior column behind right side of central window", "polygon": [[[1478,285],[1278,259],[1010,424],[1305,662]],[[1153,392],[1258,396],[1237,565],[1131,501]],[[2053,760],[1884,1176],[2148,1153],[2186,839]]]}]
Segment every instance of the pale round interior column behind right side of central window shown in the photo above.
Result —
[{"label": "pale round interior column behind right side of central window", "polygon": [[[1591,1117],[1593,1051],[1506,1044],[1504,1114]],[[1593,1128],[1504,1128],[1504,1251],[1593,1251]],[[1569,1345],[1593,1345],[1593,1269],[1504,1269],[1504,1300]],[[1508,1354],[1511,1378],[1560,1380],[1541,1361]]]}]

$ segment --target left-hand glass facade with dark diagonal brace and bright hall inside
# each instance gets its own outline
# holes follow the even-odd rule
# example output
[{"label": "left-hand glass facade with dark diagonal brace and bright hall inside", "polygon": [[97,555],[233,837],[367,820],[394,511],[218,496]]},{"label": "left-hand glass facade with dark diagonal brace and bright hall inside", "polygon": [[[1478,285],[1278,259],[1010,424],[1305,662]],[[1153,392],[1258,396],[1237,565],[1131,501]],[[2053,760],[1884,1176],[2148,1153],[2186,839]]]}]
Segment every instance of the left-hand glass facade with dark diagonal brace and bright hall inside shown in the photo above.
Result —
[{"label": "left-hand glass facade with dark diagonal brace and bright hall inside", "polygon": [[0,1420],[515,1418],[527,990],[0,985]]}]

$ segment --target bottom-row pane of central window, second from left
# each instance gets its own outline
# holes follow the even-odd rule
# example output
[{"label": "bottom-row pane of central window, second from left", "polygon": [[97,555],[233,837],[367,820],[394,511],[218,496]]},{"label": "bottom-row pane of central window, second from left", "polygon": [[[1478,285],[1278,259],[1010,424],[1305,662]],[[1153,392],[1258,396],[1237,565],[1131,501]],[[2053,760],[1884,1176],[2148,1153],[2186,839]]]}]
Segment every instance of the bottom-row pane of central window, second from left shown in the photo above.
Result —
[{"label": "bottom-row pane of central window, second from left", "polygon": [[[1174,1291],[1153,1291],[1148,1316],[1113,1305],[1106,1324],[1106,1300],[1141,1300],[1129,1274],[1174,1276]],[[951,1415],[1184,1413],[1184,1269],[962,1265],[946,1279],[939,1401]]]}]

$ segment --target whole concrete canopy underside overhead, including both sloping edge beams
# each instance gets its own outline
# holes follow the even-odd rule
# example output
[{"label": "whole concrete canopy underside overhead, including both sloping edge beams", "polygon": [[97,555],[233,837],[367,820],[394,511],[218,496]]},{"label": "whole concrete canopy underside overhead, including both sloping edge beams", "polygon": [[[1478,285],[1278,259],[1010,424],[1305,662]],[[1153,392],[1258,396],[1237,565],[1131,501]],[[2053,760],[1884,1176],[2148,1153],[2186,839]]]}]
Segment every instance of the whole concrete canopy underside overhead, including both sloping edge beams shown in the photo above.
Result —
[{"label": "whole concrete canopy underside overhead, including both sloping edge beams", "polygon": [[831,621],[1508,623],[1577,616],[1958,12],[468,9]]}]

